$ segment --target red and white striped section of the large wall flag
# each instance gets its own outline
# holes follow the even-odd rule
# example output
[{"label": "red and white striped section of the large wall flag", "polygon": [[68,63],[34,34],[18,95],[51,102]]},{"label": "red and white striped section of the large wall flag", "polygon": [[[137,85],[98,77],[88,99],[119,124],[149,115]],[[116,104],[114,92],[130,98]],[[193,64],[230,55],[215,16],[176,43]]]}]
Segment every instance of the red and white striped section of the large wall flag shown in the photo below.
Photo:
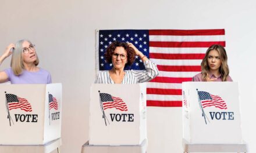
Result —
[{"label": "red and white striped section of the large wall flag", "polygon": [[147,105],[182,107],[182,82],[201,72],[209,46],[225,46],[225,30],[150,30],[150,60],[159,75],[147,83]]}]

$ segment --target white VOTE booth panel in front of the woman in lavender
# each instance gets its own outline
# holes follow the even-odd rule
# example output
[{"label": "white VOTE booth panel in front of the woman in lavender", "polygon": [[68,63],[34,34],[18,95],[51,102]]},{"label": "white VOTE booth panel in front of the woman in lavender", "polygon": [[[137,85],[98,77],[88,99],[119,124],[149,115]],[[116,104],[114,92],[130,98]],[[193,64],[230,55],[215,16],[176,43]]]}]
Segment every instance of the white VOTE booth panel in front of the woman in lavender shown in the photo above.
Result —
[{"label": "white VOTE booth panel in front of the woman in lavender", "polygon": [[62,85],[0,85],[0,144],[38,145],[61,137]]}]

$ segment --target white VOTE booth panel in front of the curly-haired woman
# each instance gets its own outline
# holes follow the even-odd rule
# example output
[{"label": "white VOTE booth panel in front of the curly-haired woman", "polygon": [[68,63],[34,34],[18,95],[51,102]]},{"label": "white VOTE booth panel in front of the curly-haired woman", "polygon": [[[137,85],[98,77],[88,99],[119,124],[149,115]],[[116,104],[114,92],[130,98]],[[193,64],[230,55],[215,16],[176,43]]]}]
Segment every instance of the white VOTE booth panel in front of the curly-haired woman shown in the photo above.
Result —
[{"label": "white VOTE booth panel in front of the curly-haired woman", "polygon": [[91,85],[90,145],[141,144],[146,127],[145,83]]}]

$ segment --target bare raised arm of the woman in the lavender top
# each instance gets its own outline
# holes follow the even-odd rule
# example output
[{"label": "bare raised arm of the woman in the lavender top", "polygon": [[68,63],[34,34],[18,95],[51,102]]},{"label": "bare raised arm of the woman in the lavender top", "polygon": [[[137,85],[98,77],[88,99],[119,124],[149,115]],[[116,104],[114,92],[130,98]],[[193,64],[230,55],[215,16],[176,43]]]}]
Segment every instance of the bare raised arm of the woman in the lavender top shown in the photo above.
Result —
[{"label": "bare raised arm of the woman in the lavender top", "polygon": [[[15,45],[11,43],[9,46],[6,47],[5,52],[0,56],[0,65],[2,62],[12,54],[12,48],[15,48]],[[8,81],[8,75],[5,71],[0,72],[0,83]]]}]

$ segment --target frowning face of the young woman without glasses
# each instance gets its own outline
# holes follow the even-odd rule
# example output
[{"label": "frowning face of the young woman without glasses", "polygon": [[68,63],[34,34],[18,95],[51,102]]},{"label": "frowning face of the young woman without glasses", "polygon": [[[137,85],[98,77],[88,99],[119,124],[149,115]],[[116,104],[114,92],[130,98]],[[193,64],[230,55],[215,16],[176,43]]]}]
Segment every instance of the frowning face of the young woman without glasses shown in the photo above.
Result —
[{"label": "frowning face of the young woman without glasses", "polygon": [[217,50],[211,50],[209,52],[207,64],[210,70],[219,70],[219,67],[221,67],[221,55]]}]

